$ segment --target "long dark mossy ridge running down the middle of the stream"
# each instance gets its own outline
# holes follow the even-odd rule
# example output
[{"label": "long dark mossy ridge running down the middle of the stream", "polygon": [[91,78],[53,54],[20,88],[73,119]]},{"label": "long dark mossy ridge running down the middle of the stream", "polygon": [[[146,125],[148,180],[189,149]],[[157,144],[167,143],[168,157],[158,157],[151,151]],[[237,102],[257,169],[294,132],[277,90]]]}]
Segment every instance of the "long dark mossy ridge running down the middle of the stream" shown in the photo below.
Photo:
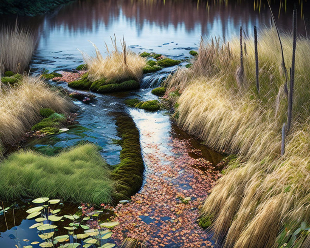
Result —
[{"label": "long dark mossy ridge running down the middle of the stream", "polygon": [[117,131],[122,138],[121,162],[112,173],[116,181],[113,200],[116,202],[137,193],[142,186],[144,163],[141,155],[139,130],[133,119],[126,114],[117,116]]}]

